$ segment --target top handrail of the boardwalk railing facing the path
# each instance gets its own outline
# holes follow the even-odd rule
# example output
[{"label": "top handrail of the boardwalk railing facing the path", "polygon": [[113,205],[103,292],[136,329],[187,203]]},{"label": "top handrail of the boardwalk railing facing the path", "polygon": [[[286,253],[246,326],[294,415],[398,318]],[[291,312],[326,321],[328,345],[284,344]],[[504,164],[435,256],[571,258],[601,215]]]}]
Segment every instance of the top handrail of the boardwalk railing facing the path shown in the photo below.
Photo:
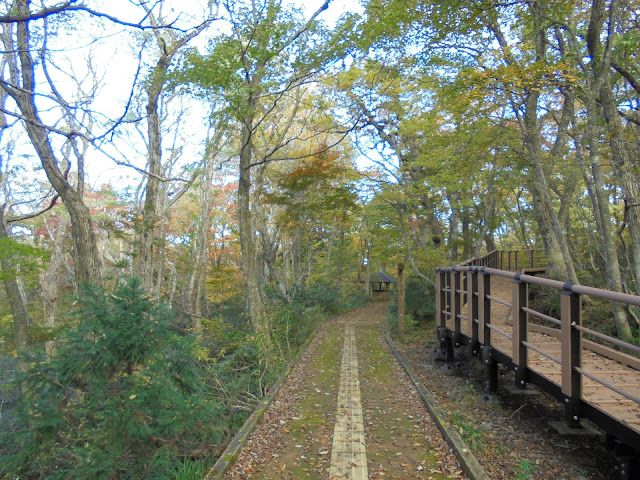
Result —
[{"label": "top handrail of the boardwalk railing facing the path", "polygon": [[498,277],[510,278],[513,280],[520,280],[522,282],[531,283],[534,285],[540,285],[542,287],[551,287],[556,290],[564,290],[580,295],[589,295],[591,297],[603,298],[605,300],[611,300],[614,302],[626,303],[629,305],[635,305],[640,307],[640,296],[631,295],[628,293],[614,292],[611,290],[605,290],[602,288],[587,287],[584,285],[577,285],[571,282],[560,282],[558,280],[551,280],[550,278],[540,278],[533,275],[527,275],[525,273],[508,272],[506,270],[498,270],[489,267],[438,267],[436,271],[440,272],[482,272],[489,275],[496,275]]}]

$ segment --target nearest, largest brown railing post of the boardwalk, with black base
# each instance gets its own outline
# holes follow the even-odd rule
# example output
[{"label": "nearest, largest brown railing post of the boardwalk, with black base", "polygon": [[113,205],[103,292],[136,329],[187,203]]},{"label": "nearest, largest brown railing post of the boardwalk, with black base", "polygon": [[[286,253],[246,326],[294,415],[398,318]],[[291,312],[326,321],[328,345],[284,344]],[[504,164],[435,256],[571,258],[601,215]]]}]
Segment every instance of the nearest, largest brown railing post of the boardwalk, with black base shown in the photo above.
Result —
[{"label": "nearest, largest brown railing post of the boardwalk, with black base", "polygon": [[582,333],[576,328],[582,324],[580,295],[571,291],[572,283],[566,283],[560,296],[562,394],[567,424],[580,427],[580,399],[582,375],[576,368],[582,363]]}]

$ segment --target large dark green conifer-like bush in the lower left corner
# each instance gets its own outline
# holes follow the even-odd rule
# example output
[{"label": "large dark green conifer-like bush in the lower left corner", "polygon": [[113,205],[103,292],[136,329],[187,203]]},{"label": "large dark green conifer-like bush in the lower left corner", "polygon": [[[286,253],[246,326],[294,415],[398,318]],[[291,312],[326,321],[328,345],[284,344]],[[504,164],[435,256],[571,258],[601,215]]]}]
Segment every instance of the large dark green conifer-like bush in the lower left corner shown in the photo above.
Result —
[{"label": "large dark green conifer-like bush in the lower left corner", "polygon": [[172,478],[178,457],[220,440],[196,343],[170,330],[170,312],[137,279],[87,289],[74,317],[55,355],[32,355],[18,377],[19,428],[3,435],[0,473]]}]

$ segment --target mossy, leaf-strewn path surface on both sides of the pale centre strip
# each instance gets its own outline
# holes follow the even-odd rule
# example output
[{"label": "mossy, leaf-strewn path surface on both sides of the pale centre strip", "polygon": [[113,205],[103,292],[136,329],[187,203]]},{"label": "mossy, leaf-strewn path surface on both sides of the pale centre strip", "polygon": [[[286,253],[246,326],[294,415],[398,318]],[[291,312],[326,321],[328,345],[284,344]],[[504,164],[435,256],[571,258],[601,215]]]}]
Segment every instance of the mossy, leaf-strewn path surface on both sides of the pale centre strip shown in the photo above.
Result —
[{"label": "mossy, leaf-strewn path surface on both sides of the pale centre strip", "polygon": [[[276,448],[260,462],[253,478],[327,478],[340,382],[341,349],[346,322],[356,326],[360,389],[365,420],[369,478],[444,480],[455,476],[439,433],[425,428],[424,407],[396,377],[391,354],[383,345],[380,324],[384,305],[341,315],[324,327],[313,360],[304,368],[290,415],[282,419]],[[435,428],[435,427],[434,427]],[[434,449],[433,438],[441,443]]]}]

